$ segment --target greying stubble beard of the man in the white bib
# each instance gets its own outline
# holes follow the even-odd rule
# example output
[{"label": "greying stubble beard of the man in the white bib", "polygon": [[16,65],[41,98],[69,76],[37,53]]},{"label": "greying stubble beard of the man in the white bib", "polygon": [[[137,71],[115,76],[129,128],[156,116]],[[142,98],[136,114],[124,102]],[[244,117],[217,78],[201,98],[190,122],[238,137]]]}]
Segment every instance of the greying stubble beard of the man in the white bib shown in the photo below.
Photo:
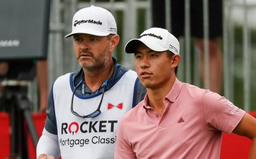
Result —
[{"label": "greying stubble beard of the man in the white bib", "polygon": [[[92,56],[91,59],[87,58],[79,58],[81,53],[87,53],[90,56]],[[109,60],[109,45],[105,47],[103,52],[99,53],[99,55],[95,56],[93,55],[92,52],[87,51],[87,50],[82,50],[79,52],[78,58],[76,58],[77,63],[84,69],[88,71],[93,71],[93,70],[99,70],[101,68],[104,68],[107,65],[107,62]]]}]

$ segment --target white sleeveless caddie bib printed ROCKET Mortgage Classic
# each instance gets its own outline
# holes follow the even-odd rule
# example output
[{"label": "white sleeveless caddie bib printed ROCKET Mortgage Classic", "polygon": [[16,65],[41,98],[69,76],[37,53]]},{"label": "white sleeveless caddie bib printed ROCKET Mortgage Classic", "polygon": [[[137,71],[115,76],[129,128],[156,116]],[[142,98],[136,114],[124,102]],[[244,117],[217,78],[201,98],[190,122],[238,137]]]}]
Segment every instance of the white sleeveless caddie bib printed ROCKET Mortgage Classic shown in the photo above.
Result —
[{"label": "white sleeveless caddie bib printed ROCKET Mortgage Classic", "polygon": [[[72,82],[70,73],[59,77],[53,85],[53,99],[62,159],[113,159],[119,120],[132,108],[136,72],[129,70],[105,91],[101,113],[82,118],[70,111]],[[73,110],[88,115],[97,109],[102,94],[90,98],[74,95]],[[134,97],[135,98],[135,97]]]}]

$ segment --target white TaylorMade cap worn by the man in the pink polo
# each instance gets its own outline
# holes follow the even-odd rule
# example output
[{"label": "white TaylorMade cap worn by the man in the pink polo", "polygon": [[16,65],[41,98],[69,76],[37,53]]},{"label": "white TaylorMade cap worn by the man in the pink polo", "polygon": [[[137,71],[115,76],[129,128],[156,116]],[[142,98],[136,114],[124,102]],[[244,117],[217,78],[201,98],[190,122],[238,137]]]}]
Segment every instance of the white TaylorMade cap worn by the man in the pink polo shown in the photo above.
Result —
[{"label": "white TaylorMade cap worn by the man in the pink polo", "polygon": [[137,39],[131,39],[125,45],[126,53],[134,53],[140,43],[157,52],[169,50],[175,55],[180,54],[180,43],[171,33],[162,28],[145,30]]}]

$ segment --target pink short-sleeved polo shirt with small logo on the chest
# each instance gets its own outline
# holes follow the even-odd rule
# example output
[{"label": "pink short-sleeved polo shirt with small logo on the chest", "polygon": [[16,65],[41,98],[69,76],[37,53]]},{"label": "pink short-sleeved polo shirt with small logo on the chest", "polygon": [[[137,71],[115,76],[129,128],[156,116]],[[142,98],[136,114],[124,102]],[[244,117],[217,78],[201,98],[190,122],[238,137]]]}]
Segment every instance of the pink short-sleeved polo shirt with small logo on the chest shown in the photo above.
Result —
[{"label": "pink short-sleeved polo shirt with small logo on the chest", "polygon": [[245,111],[209,90],[176,78],[160,116],[148,95],[118,127],[115,159],[219,159],[222,132],[232,133]]}]

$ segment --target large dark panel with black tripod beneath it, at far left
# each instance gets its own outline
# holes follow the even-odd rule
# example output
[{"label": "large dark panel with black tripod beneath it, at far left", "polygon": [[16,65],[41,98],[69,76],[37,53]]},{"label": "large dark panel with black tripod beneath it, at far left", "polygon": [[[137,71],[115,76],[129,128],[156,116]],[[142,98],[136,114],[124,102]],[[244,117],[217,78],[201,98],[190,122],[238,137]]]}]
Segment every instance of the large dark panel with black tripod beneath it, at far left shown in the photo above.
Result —
[{"label": "large dark panel with black tripod beneath it, at far left", "polygon": [[0,111],[10,114],[9,159],[28,159],[26,129],[36,147],[38,134],[31,116],[28,84],[36,75],[36,61],[47,58],[50,0],[0,0],[0,70],[3,93]]}]

